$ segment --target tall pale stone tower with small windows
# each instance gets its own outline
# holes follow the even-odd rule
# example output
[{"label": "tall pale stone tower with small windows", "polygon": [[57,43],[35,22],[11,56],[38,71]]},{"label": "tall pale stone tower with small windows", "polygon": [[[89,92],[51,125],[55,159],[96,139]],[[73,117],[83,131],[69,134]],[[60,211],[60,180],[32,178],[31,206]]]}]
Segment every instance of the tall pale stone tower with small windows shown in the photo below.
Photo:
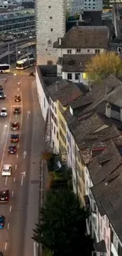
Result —
[{"label": "tall pale stone tower with small windows", "polygon": [[37,64],[56,63],[53,43],[65,35],[65,0],[36,0]]}]

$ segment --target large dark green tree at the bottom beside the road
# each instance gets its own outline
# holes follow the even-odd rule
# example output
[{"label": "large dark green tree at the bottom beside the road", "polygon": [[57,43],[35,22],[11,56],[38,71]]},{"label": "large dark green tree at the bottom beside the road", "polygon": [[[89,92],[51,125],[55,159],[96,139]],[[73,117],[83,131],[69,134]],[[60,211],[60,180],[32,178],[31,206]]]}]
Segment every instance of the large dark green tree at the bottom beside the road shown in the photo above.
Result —
[{"label": "large dark green tree at the bottom beside the road", "polygon": [[91,255],[92,240],[86,235],[87,212],[69,189],[49,191],[33,239],[54,256]]}]

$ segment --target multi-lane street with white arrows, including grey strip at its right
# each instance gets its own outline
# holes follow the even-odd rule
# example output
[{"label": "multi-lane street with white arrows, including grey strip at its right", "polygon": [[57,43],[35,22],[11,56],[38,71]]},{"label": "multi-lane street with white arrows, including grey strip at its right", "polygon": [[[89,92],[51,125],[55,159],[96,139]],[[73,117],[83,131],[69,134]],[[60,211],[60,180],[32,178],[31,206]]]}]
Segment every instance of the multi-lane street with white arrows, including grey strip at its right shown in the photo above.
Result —
[{"label": "multi-lane street with white arrows, including grey strip at its right", "polygon": [[[0,117],[0,172],[5,164],[12,165],[12,176],[0,176],[0,189],[9,189],[9,202],[0,204],[5,215],[5,227],[0,230],[0,250],[5,256],[32,256],[36,244],[31,239],[32,228],[38,222],[39,161],[43,150],[43,117],[33,77],[13,74],[7,77],[3,91],[6,99],[0,100],[0,109],[6,107],[8,117]],[[0,78],[1,79],[1,78]],[[18,83],[19,82],[19,83]],[[20,95],[21,102],[14,102]],[[15,106],[21,113],[13,115]],[[8,154],[10,129],[13,121],[20,123],[17,154]],[[1,174],[0,174],[1,175]]]}]

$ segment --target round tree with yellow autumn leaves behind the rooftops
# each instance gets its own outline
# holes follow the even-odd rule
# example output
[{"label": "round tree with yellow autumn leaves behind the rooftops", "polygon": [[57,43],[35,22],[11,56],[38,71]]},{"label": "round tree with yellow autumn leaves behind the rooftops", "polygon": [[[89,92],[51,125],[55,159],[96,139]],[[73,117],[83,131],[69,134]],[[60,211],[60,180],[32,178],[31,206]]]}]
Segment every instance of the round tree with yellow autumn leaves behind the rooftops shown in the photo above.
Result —
[{"label": "round tree with yellow autumn leaves behind the rooftops", "polygon": [[122,73],[122,60],[114,52],[97,54],[86,65],[86,72],[90,81],[98,82],[113,74],[119,76]]}]

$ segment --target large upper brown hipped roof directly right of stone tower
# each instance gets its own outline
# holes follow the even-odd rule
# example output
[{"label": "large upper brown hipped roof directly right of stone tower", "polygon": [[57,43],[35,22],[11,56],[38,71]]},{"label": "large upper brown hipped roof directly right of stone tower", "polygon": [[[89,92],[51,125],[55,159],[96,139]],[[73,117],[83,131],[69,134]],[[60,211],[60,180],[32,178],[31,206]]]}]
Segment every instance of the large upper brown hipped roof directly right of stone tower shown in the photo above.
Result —
[{"label": "large upper brown hipped roof directly right of stone tower", "polygon": [[109,29],[105,26],[72,27],[56,48],[104,48],[108,47]]}]

